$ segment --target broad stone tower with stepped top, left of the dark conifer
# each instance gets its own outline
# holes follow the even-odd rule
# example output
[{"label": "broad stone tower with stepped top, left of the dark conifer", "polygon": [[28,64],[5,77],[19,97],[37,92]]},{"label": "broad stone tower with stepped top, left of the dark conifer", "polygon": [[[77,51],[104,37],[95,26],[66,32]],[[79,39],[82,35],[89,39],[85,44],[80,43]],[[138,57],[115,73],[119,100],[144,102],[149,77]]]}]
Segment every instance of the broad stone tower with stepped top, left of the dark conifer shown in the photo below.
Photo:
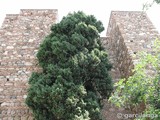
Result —
[{"label": "broad stone tower with stepped top, left of the dark conifer", "polygon": [[39,44],[57,20],[57,10],[23,9],[7,14],[0,29],[0,120],[31,119],[24,100],[27,82],[39,68]]}]

